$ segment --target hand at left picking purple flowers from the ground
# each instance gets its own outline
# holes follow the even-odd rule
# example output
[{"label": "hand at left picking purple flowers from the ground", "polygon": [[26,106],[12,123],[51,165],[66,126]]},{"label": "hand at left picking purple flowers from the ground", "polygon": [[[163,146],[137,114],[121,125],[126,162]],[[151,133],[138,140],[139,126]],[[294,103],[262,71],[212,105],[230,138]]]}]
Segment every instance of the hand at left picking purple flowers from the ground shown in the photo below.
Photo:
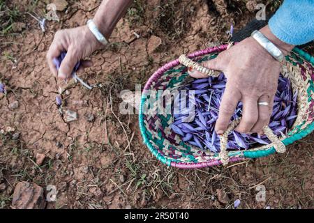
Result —
[{"label": "hand at left picking purple flowers from the ground", "polygon": [[[68,79],[78,61],[81,61],[79,70],[91,66],[91,61],[82,61],[103,45],[98,42],[87,26],[80,26],[74,29],[62,29],[54,35],[54,40],[47,52],[47,62],[51,72],[61,79]],[[52,60],[57,58],[61,52],[66,51],[59,71]]]}]

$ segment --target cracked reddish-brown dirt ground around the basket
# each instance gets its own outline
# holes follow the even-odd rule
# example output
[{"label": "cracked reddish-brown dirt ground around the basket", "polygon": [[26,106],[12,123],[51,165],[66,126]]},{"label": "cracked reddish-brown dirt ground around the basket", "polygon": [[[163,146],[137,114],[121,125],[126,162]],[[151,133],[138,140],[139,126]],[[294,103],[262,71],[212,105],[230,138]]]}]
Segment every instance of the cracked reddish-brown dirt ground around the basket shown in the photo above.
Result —
[{"label": "cracked reddish-brown dirt ground around the basket", "polygon": [[[116,44],[95,52],[94,66],[81,75],[103,87],[88,91],[77,84],[69,89],[65,108],[79,117],[71,123],[57,111],[55,97],[62,83],[48,70],[45,54],[58,29],[84,25],[100,1],[68,1],[67,13],[59,13],[61,22],[47,22],[45,34],[24,13],[43,15],[45,3],[30,2],[10,3],[22,12],[25,27],[0,36],[0,81],[8,86],[8,95],[0,95],[0,208],[10,208],[14,187],[23,180],[44,189],[57,187],[57,201],[47,208],[233,208],[236,199],[240,208],[314,208],[313,134],[284,155],[227,168],[179,170],[149,153],[136,115],[118,113],[122,89],[134,90],[182,53],[225,43],[230,23],[237,31],[254,16],[246,1],[208,1],[210,10],[202,0],[137,1],[110,38]],[[154,52],[151,43],[159,45]],[[9,109],[16,100],[19,106]],[[94,122],[87,121],[89,114]],[[115,115],[128,139],[134,134],[130,148]],[[8,132],[9,127],[14,130]],[[16,132],[20,137],[13,140]],[[45,155],[40,166],[38,153]],[[266,189],[264,201],[256,199],[257,185]],[[227,203],[218,200],[218,192],[227,194]]]}]

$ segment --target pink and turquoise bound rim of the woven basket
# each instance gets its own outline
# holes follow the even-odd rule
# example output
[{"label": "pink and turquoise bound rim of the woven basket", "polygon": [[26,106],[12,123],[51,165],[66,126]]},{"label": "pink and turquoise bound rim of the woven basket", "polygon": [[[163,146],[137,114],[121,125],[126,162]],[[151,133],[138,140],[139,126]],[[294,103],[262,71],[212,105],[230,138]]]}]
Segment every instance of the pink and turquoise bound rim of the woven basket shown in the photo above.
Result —
[{"label": "pink and turquoise bound rim of the woven basket", "polygon": [[[204,56],[206,54],[217,53],[225,49],[227,49],[227,45],[208,47],[206,49],[202,49],[200,51],[188,54],[188,57],[190,59],[194,59],[197,56]],[[292,52],[299,54],[299,56],[301,56],[305,61],[308,61],[309,63],[314,65],[314,57],[304,52],[302,49],[294,47],[294,49],[292,49]],[[175,59],[174,61],[170,61],[166,63],[161,68],[158,68],[158,70],[156,70],[156,72],[154,72],[154,74],[151,75],[151,77],[149,78],[149,80],[144,86],[142,96],[141,96],[141,101],[140,101],[140,109],[139,109],[140,132],[142,134],[144,144],[146,144],[146,146],[149,148],[149,151],[153,153],[153,155],[157,158],[157,160],[159,160],[160,162],[163,162],[164,164],[167,164],[168,166],[177,167],[180,169],[195,169],[195,168],[212,167],[212,166],[220,165],[222,164],[222,162],[219,159],[216,159],[215,157],[213,157],[212,160],[207,160],[206,162],[197,162],[197,163],[176,162],[175,160],[168,157],[164,157],[163,155],[158,153],[158,150],[154,148],[153,144],[151,144],[151,142],[149,141],[150,139],[148,139],[147,134],[145,134],[146,127],[144,126],[144,114],[142,112],[142,105],[145,100],[145,97],[144,97],[145,91],[150,89],[151,84],[156,82],[156,80],[158,79],[158,76],[163,75],[165,71],[170,70],[171,68],[174,68],[175,66],[178,66],[179,64],[180,64],[179,60]],[[282,139],[283,144],[285,144],[286,146],[289,144],[292,144],[294,141],[297,141],[303,137],[306,137],[306,135],[310,134],[313,130],[314,130],[314,123],[311,123],[310,125],[306,126],[306,128],[304,128],[303,130],[300,130],[299,132],[291,135],[290,137]],[[237,152],[234,152],[234,155],[230,157],[230,162],[237,162],[237,161],[247,160],[247,159],[257,158],[257,157],[264,157],[264,156],[271,155],[273,153],[276,153],[274,146],[271,146],[270,148],[265,149],[264,151],[258,151],[258,150],[257,151],[249,151],[249,150],[237,151]]]}]

